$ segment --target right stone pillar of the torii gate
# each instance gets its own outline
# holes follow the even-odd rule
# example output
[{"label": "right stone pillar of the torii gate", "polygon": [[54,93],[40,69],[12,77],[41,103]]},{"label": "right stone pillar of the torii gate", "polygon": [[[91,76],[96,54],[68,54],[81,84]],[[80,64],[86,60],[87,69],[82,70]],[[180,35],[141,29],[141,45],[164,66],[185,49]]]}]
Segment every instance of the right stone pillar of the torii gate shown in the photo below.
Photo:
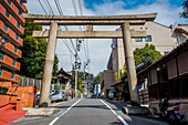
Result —
[{"label": "right stone pillar of the torii gate", "polygon": [[133,104],[139,104],[135,60],[133,54],[132,35],[128,22],[122,24],[122,32],[130,100]]}]

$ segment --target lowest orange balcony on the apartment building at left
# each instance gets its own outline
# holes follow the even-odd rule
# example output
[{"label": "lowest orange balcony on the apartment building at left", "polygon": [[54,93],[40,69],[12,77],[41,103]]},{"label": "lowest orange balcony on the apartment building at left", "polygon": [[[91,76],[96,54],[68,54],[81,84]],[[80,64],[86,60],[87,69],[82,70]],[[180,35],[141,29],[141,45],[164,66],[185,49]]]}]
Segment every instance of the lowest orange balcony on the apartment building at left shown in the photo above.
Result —
[{"label": "lowest orange balcony on the apartment building at left", "polygon": [[17,74],[13,74],[12,72],[1,70],[1,69],[0,69],[0,79],[19,83],[19,76]]}]

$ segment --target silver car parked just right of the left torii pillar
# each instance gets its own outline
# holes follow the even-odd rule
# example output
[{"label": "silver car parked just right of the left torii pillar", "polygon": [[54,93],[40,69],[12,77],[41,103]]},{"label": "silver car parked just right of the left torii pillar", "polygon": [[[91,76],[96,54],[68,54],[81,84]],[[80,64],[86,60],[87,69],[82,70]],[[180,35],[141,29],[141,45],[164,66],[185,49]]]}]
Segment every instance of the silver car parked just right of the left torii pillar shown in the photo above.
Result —
[{"label": "silver car parked just right of the left torii pillar", "polygon": [[51,102],[54,101],[66,101],[67,96],[65,93],[61,92],[61,91],[55,91],[52,95],[51,95]]}]

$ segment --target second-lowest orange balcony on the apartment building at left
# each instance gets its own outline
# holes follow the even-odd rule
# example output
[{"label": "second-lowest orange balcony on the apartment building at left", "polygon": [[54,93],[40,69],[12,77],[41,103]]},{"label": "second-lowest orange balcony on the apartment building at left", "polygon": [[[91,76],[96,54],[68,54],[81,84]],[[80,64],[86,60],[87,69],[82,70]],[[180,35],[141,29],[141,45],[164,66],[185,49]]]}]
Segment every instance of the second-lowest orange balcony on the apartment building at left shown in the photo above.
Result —
[{"label": "second-lowest orange balcony on the apartment building at left", "polygon": [[8,69],[12,69],[12,70],[20,70],[20,63],[14,61],[13,59],[9,58],[8,55],[4,55],[2,53],[0,53],[0,62],[2,64],[8,65]]}]

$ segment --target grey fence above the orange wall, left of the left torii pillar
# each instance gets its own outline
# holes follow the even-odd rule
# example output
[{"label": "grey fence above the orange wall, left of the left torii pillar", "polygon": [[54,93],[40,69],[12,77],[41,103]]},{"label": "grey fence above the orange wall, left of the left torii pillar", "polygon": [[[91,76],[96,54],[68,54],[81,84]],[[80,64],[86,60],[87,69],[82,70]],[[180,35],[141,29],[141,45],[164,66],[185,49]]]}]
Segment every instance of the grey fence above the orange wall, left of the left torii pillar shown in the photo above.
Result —
[{"label": "grey fence above the orange wall, left of the left torii pillar", "polygon": [[35,80],[27,76],[19,76],[19,84],[21,86],[36,86],[38,90],[41,90],[42,80]]}]

